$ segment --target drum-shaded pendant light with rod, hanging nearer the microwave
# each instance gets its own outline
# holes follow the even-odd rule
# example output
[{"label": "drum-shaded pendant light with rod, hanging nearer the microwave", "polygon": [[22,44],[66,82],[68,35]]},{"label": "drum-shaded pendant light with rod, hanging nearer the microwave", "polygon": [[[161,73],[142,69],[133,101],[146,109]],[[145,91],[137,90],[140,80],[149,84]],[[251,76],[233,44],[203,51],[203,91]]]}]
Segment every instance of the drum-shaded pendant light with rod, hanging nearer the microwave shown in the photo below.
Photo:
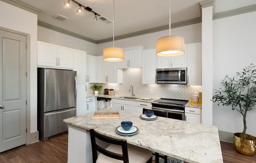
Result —
[{"label": "drum-shaded pendant light with rod, hanging nearer the microwave", "polygon": [[185,41],[181,36],[171,36],[171,0],[169,0],[169,36],[156,40],[157,56],[179,56],[185,53]]}]

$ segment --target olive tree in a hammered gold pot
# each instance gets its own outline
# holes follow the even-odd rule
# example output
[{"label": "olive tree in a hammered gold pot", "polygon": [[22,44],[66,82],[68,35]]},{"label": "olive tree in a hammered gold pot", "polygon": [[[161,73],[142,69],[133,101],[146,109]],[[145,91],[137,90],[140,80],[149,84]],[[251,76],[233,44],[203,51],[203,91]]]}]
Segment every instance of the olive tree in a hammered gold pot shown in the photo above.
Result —
[{"label": "olive tree in a hammered gold pot", "polygon": [[251,63],[242,72],[237,72],[234,78],[225,76],[224,89],[215,90],[212,101],[223,106],[230,106],[243,116],[243,132],[235,133],[233,144],[241,154],[252,156],[256,154],[256,138],[246,134],[246,115],[256,104],[256,69]]}]

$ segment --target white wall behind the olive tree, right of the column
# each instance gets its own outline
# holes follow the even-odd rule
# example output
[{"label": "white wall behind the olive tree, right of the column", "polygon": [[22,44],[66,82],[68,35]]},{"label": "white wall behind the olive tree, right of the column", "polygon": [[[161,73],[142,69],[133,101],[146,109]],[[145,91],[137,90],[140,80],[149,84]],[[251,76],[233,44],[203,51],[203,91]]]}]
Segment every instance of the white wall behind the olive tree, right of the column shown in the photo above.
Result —
[{"label": "white wall behind the olive tree, right of the column", "polygon": [[[251,12],[213,21],[213,89],[221,87],[225,75],[233,77],[250,63],[256,64],[255,18],[256,12]],[[247,113],[247,134],[252,136],[256,136],[255,117],[256,109]],[[238,111],[213,104],[213,125],[218,130],[242,132],[242,120]]]}]

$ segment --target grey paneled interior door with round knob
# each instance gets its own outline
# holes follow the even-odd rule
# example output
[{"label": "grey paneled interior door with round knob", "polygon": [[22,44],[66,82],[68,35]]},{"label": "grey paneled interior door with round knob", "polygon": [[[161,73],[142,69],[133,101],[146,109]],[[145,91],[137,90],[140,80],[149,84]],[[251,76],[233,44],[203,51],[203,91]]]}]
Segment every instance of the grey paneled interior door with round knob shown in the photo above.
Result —
[{"label": "grey paneled interior door with round knob", "polygon": [[0,152],[26,144],[26,36],[0,30]]}]

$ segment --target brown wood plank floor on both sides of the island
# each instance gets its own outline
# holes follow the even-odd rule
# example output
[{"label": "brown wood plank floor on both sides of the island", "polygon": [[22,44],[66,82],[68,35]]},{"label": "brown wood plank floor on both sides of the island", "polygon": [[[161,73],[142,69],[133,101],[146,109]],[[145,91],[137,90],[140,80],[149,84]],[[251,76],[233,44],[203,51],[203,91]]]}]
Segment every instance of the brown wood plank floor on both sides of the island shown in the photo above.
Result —
[{"label": "brown wood plank floor on both sides of the island", "polygon": [[[238,153],[231,143],[221,141],[224,163],[256,163],[256,155]],[[0,153],[0,163],[67,163],[68,133]]]}]

